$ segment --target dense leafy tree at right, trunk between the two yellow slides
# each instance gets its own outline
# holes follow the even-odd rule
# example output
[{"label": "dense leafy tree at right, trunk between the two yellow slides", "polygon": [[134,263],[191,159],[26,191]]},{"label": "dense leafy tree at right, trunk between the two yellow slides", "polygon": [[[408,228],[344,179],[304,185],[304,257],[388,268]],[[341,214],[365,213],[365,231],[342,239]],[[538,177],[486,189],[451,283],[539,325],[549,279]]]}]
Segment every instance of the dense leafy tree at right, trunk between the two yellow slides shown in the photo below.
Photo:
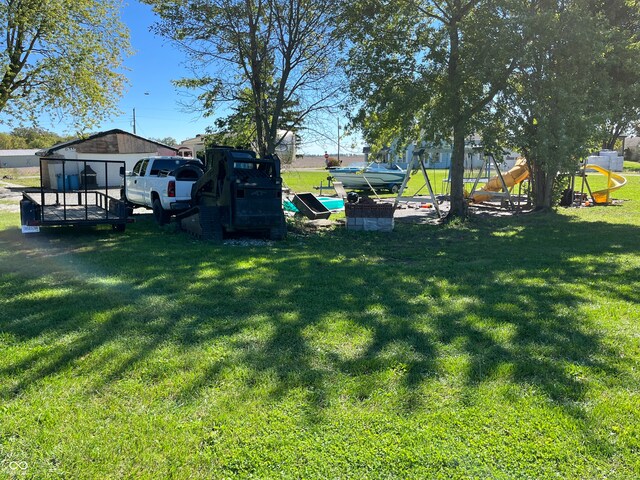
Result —
[{"label": "dense leafy tree at right, trunk between the two yellow slides", "polygon": [[554,205],[589,151],[613,148],[640,119],[638,15],[635,1],[574,0],[531,3],[523,17],[530,41],[496,108],[528,160],[537,209]]}]

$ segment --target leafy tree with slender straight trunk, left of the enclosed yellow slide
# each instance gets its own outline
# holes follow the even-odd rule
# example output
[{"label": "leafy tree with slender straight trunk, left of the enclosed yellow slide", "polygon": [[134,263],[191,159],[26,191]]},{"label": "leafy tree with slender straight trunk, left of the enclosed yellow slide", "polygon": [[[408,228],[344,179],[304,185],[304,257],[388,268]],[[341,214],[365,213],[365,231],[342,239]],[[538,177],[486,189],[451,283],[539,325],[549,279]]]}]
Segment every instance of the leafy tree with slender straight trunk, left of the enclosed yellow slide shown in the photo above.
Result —
[{"label": "leafy tree with slender straight trunk, left of the enclosed yellow slide", "polygon": [[345,11],[356,125],[369,141],[450,141],[449,218],[467,214],[465,138],[482,130],[515,68],[520,8],[508,0],[356,0]]}]

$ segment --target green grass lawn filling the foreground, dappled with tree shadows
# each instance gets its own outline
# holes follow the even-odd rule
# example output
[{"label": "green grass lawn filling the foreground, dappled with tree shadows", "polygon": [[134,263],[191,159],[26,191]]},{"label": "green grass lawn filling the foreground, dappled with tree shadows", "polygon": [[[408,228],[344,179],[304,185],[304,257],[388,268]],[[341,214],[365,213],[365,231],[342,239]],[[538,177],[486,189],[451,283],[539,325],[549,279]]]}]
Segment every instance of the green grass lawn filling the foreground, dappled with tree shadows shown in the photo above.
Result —
[{"label": "green grass lawn filling the foreground, dappled with tree shadows", "polygon": [[0,213],[0,477],[638,478],[627,178],[619,206],[265,246]]}]

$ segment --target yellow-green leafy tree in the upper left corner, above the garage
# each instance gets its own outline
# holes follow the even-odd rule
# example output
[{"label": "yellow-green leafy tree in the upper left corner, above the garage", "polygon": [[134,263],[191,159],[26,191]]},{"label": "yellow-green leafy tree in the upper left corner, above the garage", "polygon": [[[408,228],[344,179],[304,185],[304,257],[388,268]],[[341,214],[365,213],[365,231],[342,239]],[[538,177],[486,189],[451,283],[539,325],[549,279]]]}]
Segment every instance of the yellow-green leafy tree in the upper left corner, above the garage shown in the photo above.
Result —
[{"label": "yellow-green leafy tree in the upper left corner, above the garage", "polygon": [[115,110],[128,32],[116,0],[0,0],[0,112],[37,123],[43,112],[79,130]]}]

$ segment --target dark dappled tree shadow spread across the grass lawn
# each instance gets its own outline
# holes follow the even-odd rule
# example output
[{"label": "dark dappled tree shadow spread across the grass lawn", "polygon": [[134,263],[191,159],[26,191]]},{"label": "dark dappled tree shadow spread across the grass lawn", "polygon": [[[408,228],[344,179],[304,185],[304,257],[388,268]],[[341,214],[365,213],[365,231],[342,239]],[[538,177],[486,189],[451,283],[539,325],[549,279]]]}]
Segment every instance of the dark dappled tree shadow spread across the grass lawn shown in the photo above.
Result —
[{"label": "dark dappled tree shadow spread across the grass lawn", "polygon": [[[147,224],[125,235],[4,231],[12,254],[0,267],[0,332],[24,351],[0,367],[0,395],[11,400],[69,370],[104,388],[158,361],[165,345],[224,352],[202,355],[188,380],[168,387],[179,402],[242,369],[244,394],[264,381],[272,401],[306,391],[316,418],[335,395],[361,402],[384,390],[391,371],[409,413],[421,408],[427,379],[458,375],[469,388],[496,378],[533,385],[580,416],[589,385],[567,367],[619,373],[609,361],[619,352],[581,309],[592,289],[638,302],[637,270],[616,255],[639,253],[639,228],[550,216],[516,228],[504,220],[399,230],[250,248],[158,235]],[[446,358],[460,355],[465,368],[451,372]],[[357,386],[337,393],[345,378]]]}]

